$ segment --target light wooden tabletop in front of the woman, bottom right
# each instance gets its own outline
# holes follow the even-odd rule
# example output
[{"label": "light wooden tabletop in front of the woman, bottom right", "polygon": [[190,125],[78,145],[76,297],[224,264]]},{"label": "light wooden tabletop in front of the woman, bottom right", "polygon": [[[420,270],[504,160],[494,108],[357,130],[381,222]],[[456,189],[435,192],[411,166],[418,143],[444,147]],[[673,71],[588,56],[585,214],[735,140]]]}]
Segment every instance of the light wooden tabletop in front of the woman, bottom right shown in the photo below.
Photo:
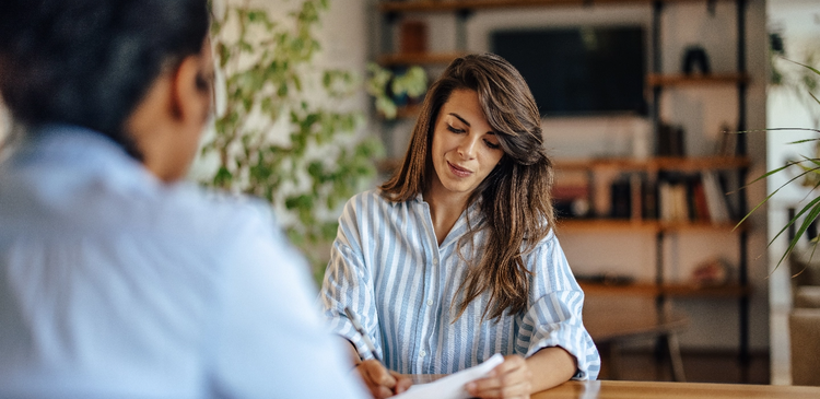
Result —
[{"label": "light wooden tabletop in front of the woman, bottom right", "polygon": [[531,399],[818,399],[820,387],[780,385],[567,382]]}]

